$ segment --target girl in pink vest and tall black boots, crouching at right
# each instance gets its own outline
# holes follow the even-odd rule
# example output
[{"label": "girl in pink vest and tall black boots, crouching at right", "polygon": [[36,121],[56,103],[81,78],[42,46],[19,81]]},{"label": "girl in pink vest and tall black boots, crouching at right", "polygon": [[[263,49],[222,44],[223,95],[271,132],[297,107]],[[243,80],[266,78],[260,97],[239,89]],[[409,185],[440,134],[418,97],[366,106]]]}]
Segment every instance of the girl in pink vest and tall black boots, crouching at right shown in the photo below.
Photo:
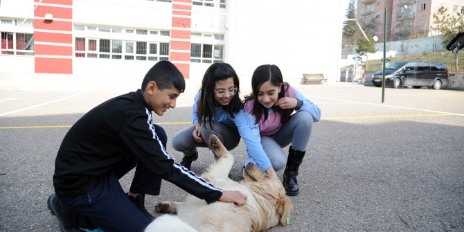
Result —
[{"label": "girl in pink vest and tall black boots, crouching at right", "polygon": [[[260,143],[274,170],[285,166],[285,192],[296,196],[298,168],[310,141],[312,123],[321,118],[321,109],[284,82],[276,65],[258,66],[251,77],[251,88],[253,92],[244,100],[244,111],[258,125]],[[287,145],[290,145],[288,157],[282,150]],[[257,162],[253,154],[249,154],[249,162]]]}]

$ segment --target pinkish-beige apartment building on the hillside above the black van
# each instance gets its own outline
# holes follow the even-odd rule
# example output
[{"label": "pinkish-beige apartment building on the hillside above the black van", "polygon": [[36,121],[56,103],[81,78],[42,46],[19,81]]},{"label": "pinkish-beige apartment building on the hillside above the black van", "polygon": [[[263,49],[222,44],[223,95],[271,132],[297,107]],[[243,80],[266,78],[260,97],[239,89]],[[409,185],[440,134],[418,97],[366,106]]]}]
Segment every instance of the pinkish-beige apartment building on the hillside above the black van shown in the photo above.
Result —
[{"label": "pinkish-beige apartment building on the hillside above the black van", "polygon": [[464,13],[463,0],[358,0],[357,19],[368,35],[383,41],[383,12],[387,8],[387,40],[427,37],[434,35],[433,14],[440,6],[448,8],[450,14]]}]

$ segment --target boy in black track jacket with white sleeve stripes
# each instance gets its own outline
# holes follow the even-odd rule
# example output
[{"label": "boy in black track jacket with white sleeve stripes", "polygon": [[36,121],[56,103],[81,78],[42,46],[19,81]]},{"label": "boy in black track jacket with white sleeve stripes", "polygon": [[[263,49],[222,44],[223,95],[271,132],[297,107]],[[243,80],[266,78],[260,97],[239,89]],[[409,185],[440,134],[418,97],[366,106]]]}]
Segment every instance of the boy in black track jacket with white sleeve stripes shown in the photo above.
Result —
[{"label": "boy in black track jacket with white sleeve stripes", "polygon": [[[141,89],[103,102],[71,127],[58,150],[55,194],[48,199],[62,231],[79,230],[76,214],[103,231],[142,231],[152,221],[144,195],[159,195],[161,179],[208,203],[244,204],[246,196],[213,186],[166,152],[166,132],[152,123],[152,111],[162,116],[174,108],[184,89],[179,70],[157,62]],[[128,197],[118,179],[134,167]]]}]

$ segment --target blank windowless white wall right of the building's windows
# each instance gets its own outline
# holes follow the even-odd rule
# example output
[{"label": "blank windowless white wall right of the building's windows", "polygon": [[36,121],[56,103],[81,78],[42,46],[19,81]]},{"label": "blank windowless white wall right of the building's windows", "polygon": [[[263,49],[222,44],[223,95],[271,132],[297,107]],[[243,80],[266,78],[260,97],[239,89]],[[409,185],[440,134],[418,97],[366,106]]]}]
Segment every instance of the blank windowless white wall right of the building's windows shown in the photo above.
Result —
[{"label": "blank windowless white wall right of the building's windows", "polygon": [[[341,3],[341,1],[339,1]],[[276,64],[284,80],[302,73],[339,76],[341,4],[325,1],[228,1],[226,60],[241,77]]]}]

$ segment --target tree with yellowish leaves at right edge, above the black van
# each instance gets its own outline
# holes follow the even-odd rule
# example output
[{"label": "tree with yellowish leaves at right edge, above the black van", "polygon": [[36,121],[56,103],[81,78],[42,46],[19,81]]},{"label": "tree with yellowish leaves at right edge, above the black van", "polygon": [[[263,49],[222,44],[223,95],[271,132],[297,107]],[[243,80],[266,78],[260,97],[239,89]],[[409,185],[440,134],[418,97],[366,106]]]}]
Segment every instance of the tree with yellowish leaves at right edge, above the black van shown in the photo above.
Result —
[{"label": "tree with yellowish leaves at right edge, above the black van", "polygon": [[[454,36],[464,31],[464,15],[459,12],[456,12],[456,15],[449,15],[447,11],[447,7],[440,6],[440,8],[434,12],[434,25],[431,26],[432,30],[438,31],[438,33],[443,36],[443,46],[447,46]],[[458,71],[458,61],[458,53],[455,53],[455,71]]]}]

